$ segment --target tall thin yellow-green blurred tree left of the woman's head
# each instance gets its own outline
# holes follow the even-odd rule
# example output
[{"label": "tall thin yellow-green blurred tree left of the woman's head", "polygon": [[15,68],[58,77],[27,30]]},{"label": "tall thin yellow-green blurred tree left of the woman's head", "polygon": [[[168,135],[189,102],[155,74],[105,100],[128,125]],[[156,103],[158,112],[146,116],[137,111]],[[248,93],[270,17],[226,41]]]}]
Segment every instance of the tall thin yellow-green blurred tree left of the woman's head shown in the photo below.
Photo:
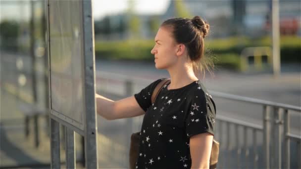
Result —
[{"label": "tall thin yellow-green blurred tree left of the woman's head", "polygon": [[139,39],[140,37],[140,19],[134,12],[135,0],[128,0],[127,16],[128,16],[128,30],[130,38]]}]

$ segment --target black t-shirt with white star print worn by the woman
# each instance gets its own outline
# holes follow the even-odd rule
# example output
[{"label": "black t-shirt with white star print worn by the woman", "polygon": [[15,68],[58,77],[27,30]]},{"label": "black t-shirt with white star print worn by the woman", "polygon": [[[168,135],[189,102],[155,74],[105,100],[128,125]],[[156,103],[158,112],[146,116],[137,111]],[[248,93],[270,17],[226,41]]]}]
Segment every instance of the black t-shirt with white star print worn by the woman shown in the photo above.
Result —
[{"label": "black t-shirt with white star print worn by the woman", "polygon": [[136,169],[190,169],[189,138],[214,134],[215,105],[200,81],[170,90],[166,84],[151,104],[151,94],[162,80],[134,95],[146,111]]}]

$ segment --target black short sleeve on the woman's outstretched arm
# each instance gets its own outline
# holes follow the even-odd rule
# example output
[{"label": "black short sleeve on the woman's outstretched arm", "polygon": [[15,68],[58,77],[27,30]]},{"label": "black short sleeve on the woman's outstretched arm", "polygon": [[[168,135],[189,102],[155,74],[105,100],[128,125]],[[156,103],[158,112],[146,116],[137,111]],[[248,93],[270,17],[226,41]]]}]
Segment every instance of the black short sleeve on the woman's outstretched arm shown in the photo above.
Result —
[{"label": "black short sleeve on the woman's outstretched arm", "polygon": [[151,106],[151,94],[156,87],[163,79],[158,79],[147,87],[142,89],[139,93],[134,94],[135,99],[137,100],[140,107],[146,112],[147,109]]}]

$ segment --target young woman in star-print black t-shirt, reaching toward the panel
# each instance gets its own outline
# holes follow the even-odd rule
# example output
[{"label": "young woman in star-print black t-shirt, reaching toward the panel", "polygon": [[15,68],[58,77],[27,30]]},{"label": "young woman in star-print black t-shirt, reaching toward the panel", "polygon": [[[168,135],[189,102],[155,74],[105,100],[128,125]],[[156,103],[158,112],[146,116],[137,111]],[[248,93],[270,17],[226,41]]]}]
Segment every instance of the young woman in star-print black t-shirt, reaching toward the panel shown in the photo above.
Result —
[{"label": "young woman in star-print black t-shirt, reaching toward the panel", "polygon": [[159,91],[153,104],[151,93],[163,79],[118,101],[97,94],[97,112],[105,119],[145,115],[136,169],[209,168],[215,105],[197,78],[197,71],[204,73],[208,67],[200,64],[208,32],[209,25],[199,16],[162,23],[151,54],[155,67],[169,72],[170,84]]}]

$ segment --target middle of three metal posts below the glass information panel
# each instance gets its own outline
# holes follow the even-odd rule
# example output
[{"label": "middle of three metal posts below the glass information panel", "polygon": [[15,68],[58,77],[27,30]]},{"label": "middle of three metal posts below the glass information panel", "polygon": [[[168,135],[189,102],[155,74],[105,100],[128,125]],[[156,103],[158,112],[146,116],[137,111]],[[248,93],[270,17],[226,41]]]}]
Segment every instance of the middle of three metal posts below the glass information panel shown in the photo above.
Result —
[{"label": "middle of three metal posts below the glass information panel", "polygon": [[65,127],[66,169],[75,169],[74,131]]}]

